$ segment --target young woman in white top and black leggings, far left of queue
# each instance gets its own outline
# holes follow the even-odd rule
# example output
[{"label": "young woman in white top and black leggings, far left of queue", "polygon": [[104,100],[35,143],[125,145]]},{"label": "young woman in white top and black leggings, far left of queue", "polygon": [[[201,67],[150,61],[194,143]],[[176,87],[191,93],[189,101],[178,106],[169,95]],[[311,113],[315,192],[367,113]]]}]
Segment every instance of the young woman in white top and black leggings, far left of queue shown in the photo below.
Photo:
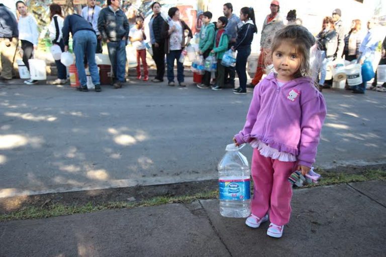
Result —
[{"label": "young woman in white top and black leggings, far left of queue", "polygon": [[[16,2],[16,8],[20,14],[18,29],[19,39],[22,42],[23,62],[28,70],[30,70],[28,60],[33,57],[34,50],[38,49],[38,24],[34,16],[28,13],[27,6],[23,1]],[[27,85],[33,85],[38,82],[38,80],[33,79],[24,81]]]}]

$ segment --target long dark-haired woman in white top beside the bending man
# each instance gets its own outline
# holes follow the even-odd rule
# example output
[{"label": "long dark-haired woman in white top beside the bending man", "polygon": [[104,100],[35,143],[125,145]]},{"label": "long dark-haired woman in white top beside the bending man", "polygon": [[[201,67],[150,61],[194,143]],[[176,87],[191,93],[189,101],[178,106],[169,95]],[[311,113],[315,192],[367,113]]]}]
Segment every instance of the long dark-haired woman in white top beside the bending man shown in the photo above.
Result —
[{"label": "long dark-haired woman in white top beside the bending man", "polygon": [[[50,32],[50,39],[52,40],[52,44],[58,45],[62,52],[64,52],[64,43],[63,43],[63,16],[62,16],[62,8],[57,4],[50,5],[50,20],[51,23],[48,27],[48,31]],[[58,78],[54,81],[51,81],[52,85],[60,85],[65,84],[67,82],[67,70],[66,66],[64,66],[60,60],[55,60],[56,68],[58,70],[57,76]]]}]

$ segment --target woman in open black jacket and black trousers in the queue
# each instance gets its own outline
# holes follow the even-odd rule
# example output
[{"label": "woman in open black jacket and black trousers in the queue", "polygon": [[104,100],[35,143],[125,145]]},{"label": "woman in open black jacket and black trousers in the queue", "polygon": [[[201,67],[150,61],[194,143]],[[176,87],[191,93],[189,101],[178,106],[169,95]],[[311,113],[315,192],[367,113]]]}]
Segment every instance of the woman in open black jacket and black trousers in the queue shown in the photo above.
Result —
[{"label": "woman in open black jacket and black trousers in the queue", "polygon": [[161,30],[165,21],[161,17],[161,4],[154,2],[151,5],[151,9],[153,10],[154,14],[149,22],[150,42],[153,49],[153,60],[157,66],[157,75],[152,81],[162,82],[163,75],[165,74],[165,40],[162,36]]}]

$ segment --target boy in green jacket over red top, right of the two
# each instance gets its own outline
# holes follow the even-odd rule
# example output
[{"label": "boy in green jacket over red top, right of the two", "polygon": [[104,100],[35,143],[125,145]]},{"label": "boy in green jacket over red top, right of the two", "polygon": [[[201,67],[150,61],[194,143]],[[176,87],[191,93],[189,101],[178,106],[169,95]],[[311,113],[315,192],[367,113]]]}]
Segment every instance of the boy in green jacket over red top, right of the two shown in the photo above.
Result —
[{"label": "boy in green jacket over red top, right of the two", "polygon": [[217,58],[217,78],[216,85],[212,87],[212,90],[221,90],[224,87],[225,67],[221,65],[221,60],[223,59],[224,53],[228,50],[229,37],[224,29],[227,24],[228,19],[225,16],[221,16],[216,24],[218,31],[214,39],[213,50],[211,53],[216,54]]}]

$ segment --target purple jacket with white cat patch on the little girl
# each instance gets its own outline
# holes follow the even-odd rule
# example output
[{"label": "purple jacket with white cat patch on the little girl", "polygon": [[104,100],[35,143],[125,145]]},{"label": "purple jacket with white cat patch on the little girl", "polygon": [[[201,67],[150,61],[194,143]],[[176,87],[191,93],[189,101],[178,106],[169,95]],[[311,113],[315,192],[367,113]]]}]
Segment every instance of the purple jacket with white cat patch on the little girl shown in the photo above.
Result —
[{"label": "purple jacket with white cat patch on the little girl", "polygon": [[237,143],[258,139],[311,167],[327,112],[323,95],[311,83],[301,77],[279,87],[271,72],[253,90],[244,128],[235,135]]}]

